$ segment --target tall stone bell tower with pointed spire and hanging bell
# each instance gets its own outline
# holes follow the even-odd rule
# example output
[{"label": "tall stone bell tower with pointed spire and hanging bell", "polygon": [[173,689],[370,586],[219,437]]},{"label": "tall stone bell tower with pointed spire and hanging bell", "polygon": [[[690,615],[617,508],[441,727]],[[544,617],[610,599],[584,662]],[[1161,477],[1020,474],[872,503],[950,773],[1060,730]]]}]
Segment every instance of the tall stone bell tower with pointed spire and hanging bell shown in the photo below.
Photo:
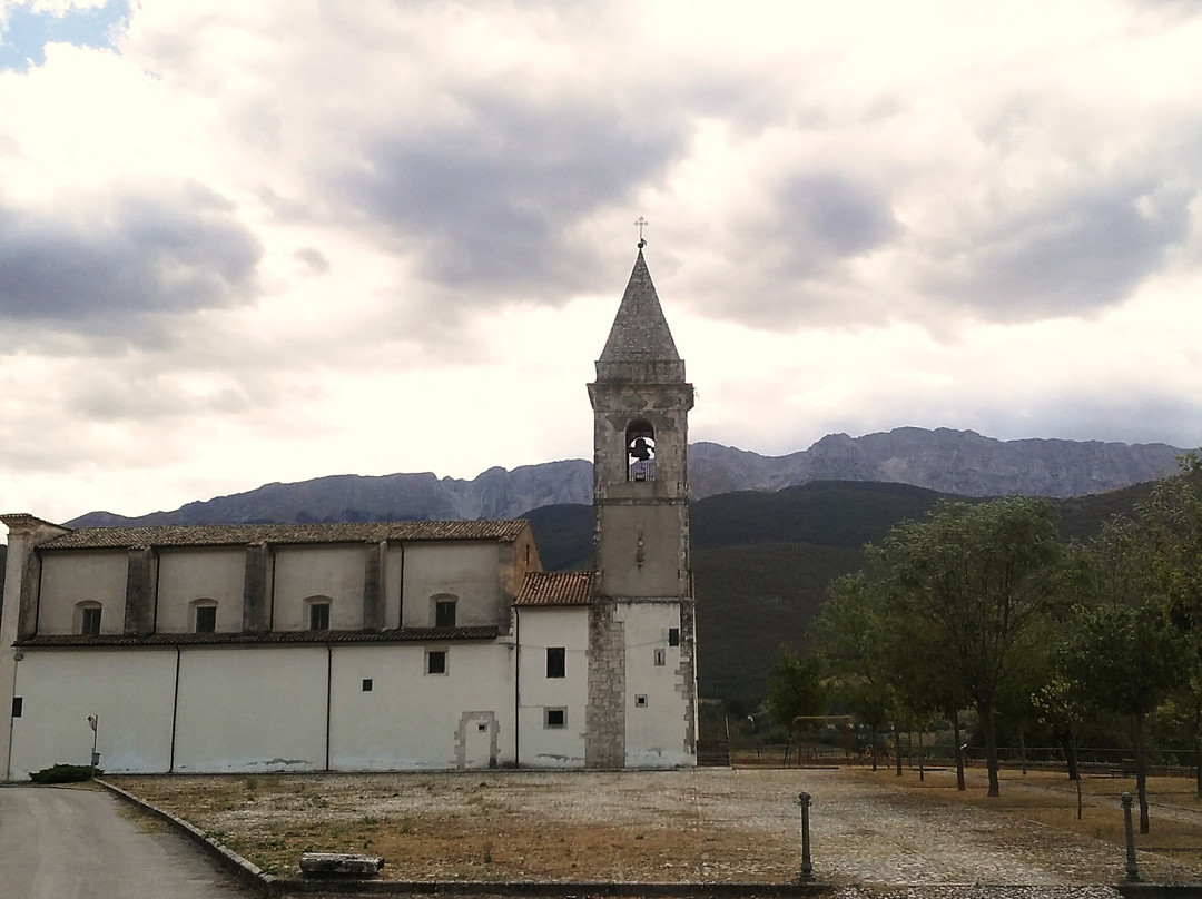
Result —
[{"label": "tall stone bell tower with pointed spire and hanging bell", "polygon": [[638,257],[589,385],[594,578],[585,763],[696,763],[692,385]]}]

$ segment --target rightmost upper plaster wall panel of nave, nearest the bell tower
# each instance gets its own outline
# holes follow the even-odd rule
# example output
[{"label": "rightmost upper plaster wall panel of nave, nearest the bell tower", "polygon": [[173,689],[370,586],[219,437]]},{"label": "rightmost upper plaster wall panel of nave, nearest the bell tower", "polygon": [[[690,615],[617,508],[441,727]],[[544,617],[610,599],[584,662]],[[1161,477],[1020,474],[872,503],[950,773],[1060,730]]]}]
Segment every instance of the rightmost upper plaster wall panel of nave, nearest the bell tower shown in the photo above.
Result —
[{"label": "rightmost upper plaster wall panel of nave, nearest the bell tower", "polygon": [[434,597],[446,595],[457,600],[459,627],[502,624],[496,543],[406,543],[404,577],[406,627],[434,626]]}]

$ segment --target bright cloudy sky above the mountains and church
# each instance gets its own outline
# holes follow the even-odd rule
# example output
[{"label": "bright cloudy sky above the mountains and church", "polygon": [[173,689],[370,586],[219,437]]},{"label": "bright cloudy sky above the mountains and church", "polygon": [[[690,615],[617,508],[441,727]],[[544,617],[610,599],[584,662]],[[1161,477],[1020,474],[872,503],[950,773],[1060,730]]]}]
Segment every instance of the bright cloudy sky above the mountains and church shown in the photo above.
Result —
[{"label": "bright cloudy sky above the mountains and church", "polygon": [[1202,443],[1182,0],[0,0],[0,511],[695,440]]}]

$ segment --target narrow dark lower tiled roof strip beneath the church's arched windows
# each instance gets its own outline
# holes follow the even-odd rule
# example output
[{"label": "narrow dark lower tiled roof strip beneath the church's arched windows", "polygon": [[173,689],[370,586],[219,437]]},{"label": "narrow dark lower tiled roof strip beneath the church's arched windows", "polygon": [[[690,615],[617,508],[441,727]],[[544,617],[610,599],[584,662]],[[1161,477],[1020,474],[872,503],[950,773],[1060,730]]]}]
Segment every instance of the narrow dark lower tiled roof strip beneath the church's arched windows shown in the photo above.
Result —
[{"label": "narrow dark lower tiled roof strip beneath the church's arched windows", "polygon": [[327,643],[450,643],[465,639],[495,639],[494,625],[476,627],[393,627],[387,631],[269,631],[267,633],[53,633],[26,637],[13,645],[31,648],[79,647],[245,647]]}]

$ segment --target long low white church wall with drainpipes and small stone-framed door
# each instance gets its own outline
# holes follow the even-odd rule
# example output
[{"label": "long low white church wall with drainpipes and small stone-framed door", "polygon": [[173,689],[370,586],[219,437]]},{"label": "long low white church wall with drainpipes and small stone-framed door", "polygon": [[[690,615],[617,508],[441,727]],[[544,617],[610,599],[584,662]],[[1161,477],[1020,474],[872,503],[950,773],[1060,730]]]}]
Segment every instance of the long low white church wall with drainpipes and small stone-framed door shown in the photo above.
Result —
[{"label": "long low white church wall with drainpipes and small stone-framed door", "polygon": [[[446,674],[426,674],[430,649],[447,653]],[[331,769],[512,767],[513,651],[469,642],[182,647],[177,690],[174,648],[26,649],[10,778],[87,764],[93,714],[101,767],[113,773],[323,770],[327,695]]]}]

